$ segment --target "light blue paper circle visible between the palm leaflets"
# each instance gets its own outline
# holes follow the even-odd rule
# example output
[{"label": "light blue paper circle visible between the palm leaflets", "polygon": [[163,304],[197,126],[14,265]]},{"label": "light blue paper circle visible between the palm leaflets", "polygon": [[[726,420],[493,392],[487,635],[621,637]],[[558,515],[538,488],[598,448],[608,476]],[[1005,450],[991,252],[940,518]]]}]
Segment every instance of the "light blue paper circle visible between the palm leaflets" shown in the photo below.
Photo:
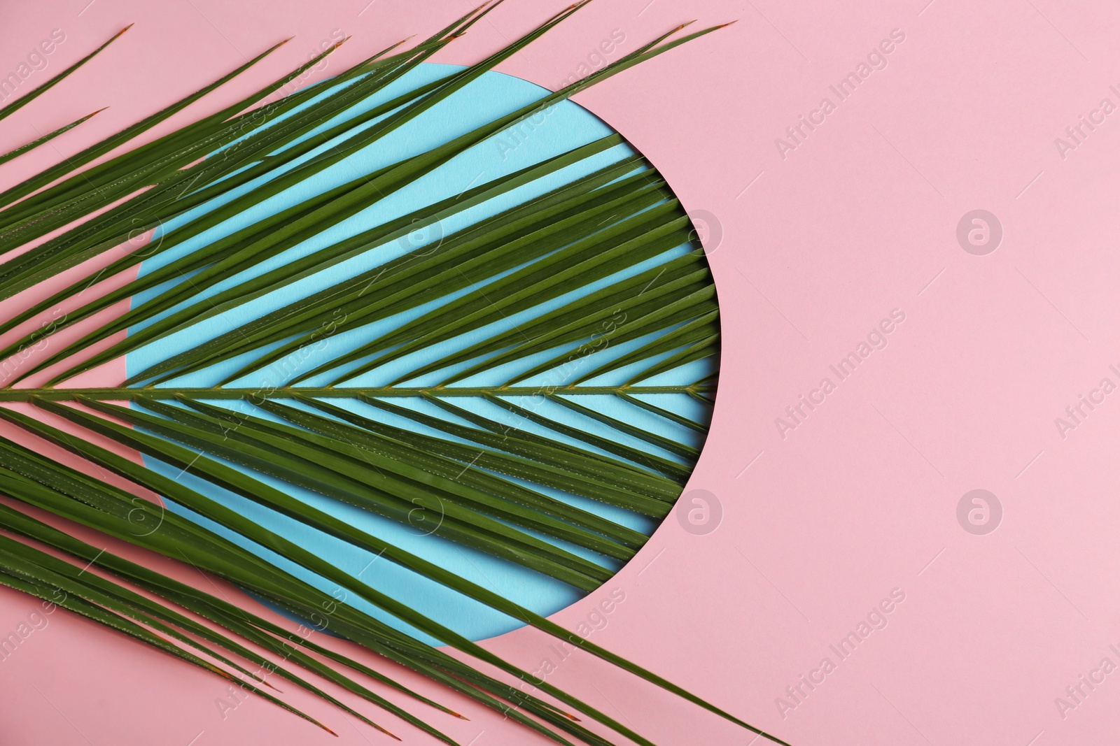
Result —
[{"label": "light blue paper circle visible between the palm leaflets", "polygon": [[[334,117],[333,120],[324,122],[317,132],[326,130],[345,119],[356,115],[360,112],[368,111],[373,106],[391,100],[401,93],[413,89],[430,81],[441,78],[450,73],[457,72],[458,69],[461,68],[449,65],[421,65],[407,76],[379,92],[376,95],[362,101],[351,110]],[[358,174],[370,173],[401,159],[424,152],[450,140],[451,138],[464,134],[476,126],[489,122],[500,115],[506,114],[530,102],[536,101],[541,96],[547,95],[547,93],[548,92],[540,86],[526,81],[500,73],[487,73],[463,91],[452,94],[445,101],[432,106],[405,126],[393,131],[374,144],[351,155],[346,160],[314,174],[299,185],[269,198],[260,205],[250,207],[234,218],[226,220],[225,223],[205,232],[199,236],[184,242],[184,244],[179,246],[146,259],[141,265],[140,274],[147,274],[160,266],[164,266],[174,258],[181,257],[190,252],[197,251],[200,246],[244,228],[255,220],[273,215],[308,198],[323,193],[328,189],[351,181]],[[311,100],[306,105],[314,106],[315,102],[316,100]],[[572,148],[589,143],[612,133],[613,130],[608,125],[581,106],[572,102],[561,102],[560,104],[547,110],[545,113],[541,113],[534,119],[526,120],[521,125],[512,128],[497,136],[478,143],[448,163],[441,166],[436,171],[420,178],[414,183],[411,183],[396,192],[388,195],[383,199],[376,201],[376,204],[367,207],[362,213],[343,220],[337,225],[326,228],[314,238],[286,251],[279,256],[260,263],[245,273],[228,277],[222,283],[203,291],[199,295],[193,298],[192,302],[197,301],[199,298],[213,295],[214,293],[228,287],[231,283],[250,276],[255,276],[286,264],[296,257],[304,256],[310,252],[320,249],[333,243],[353,236],[373,225],[405,215],[423,205],[429,205],[440,199],[446,199],[449,196],[455,196],[474,183],[480,183],[502,174],[514,172],[545,158],[566,152]],[[321,149],[312,151],[312,153],[296,160],[288,168],[298,166],[318,152],[321,152]],[[440,229],[436,232],[440,235],[435,235],[432,232],[428,232],[427,234],[420,234],[412,237],[412,240],[392,242],[390,245],[379,246],[375,251],[366,252],[360,256],[336,264],[328,270],[319,272],[318,274],[299,280],[286,287],[282,292],[273,292],[255,299],[232,310],[231,312],[214,317],[189,329],[177,332],[167,339],[142,347],[128,355],[125,362],[128,375],[132,376],[176,352],[189,349],[195,344],[212,339],[216,334],[230,331],[246,321],[258,318],[277,308],[287,305],[295,298],[306,296],[324,287],[353,277],[354,275],[373,266],[377,266],[386,259],[393,258],[393,252],[396,252],[396,255],[404,254],[413,248],[412,244],[414,242],[423,243],[427,240],[438,240],[445,233],[449,234],[465,226],[472,225],[479,219],[520,205],[533,196],[547,192],[556,187],[571,181],[575,178],[614,162],[619,158],[619,153],[629,154],[633,152],[634,151],[625,144],[617,145],[609,151],[580,161],[579,163],[552,173],[549,177],[533,181],[512,192],[486,201],[476,207],[463,210],[463,213],[447,218],[442,221]],[[153,237],[152,240],[159,240],[161,236],[171,234],[177,227],[180,227],[186,221],[230,201],[239,195],[245,193],[250,189],[258,186],[258,183],[259,182],[254,181],[246,186],[239,187],[237,189],[232,190],[231,193],[225,195],[211,204],[168,221],[160,228],[158,235]],[[662,257],[657,257],[656,261],[663,262],[666,257],[680,256],[689,249],[690,247],[688,245],[681,246]],[[640,267],[636,267],[634,272],[644,271],[648,268],[648,266],[651,266],[651,263],[645,263]],[[599,283],[589,285],[588,289],[594,290],[596,287],[601,287],[614,281],[614,277],[608,277]],[[159,292],[166,290],[167,286],[168,285],[165,284],[138,294],[132,299],[133,306],[153,298]],[[590,292],[590,290],[587,292]],[[566,301],[567,296],[561,296],[560,299],[552,301],[551,304],[538,306],[536,309],[531,310],[530,313],[540,313],[541,310],[556,308]],[[171,309],[166,313],[171,313],[179,308],[180,306],[176,306],[176,309]],[[426,312],[428,309],[429,306],[421,306],[403,318],[414,318],[416,315],[420,315]],[[166,313],[161,314],[161,317],[157,317],[157,319],[162,318]],[[385,323],[399,323],[400,320],[400,318],[394,318],[386,320]],[[516,318],[513,319],[512,322],[516,322]],[[130,332],[134,332],[137,329],[142,329],[143,325],[144,324],[141,324],[137,328],[130,329]],[[372,328],[365,327],[352,332],[338,334],[337,338],[332,338],[328,341],[329,349],[325,352],[325,355],[335,355],[339,350],[347,349],[347,344],[353,347],[357,343],[357,340],[363,338],[368,339],[371,333],[376,332],[379,332],[379,327],[377,324],[373,324]],[[482,334],[482,331],[479,331],[479,334]],[[473,340],[468,339],[466,340],[466,343],[470,343],[470,341]],[[634,344],[637,346],[638,342],[641,342],[641,340]],[[548,355],[545,355],[544,359],[547,358]],[[243,360],[240,359],[227,361],[225,363],[214,366],[213,368],[185,375],[176,379],[174,384],[165,385],[213,386],[216,385],[225,375],[236,370],[242,363]],[[276,370],[277,365],[280,363],[274,363],[272,367],[251,374],[231,385],[272,385],[272,380],[279,380],[281,377],[280,372]],[[663,374],[656,380],[657,383],[665,384],[687,384],[702,377],[703,371],[710,371],[712,365],[713,363],[710,361],[700,360],[669,371],[668,374]],[[374,371],[360,379],[349,381],[346,385],[384,385],[392,379],[392,372],[393,371],[391,369]],[[625,372],[626,369],[617,371],[617,376],[622,376],[622,379],[625,380]],[[478,376],[472,377],[468,381],[474,383],[474,385],[500,384],[505,378],[508,378],[508,376],[503,377],[501,371],[485,371]],[[309,379],[306,383],[315,385],[316,379]],[[319,385],[321,385],[321,383]],[[683,398],[688,399],[689,397]],[[616,402],[615,397],[603,397],[603,399],[604,400],[601,403],[596,404],[596,407],[605,414],[614,414],[618,417],[624,416],[627,421],[635,421],[636,417],[637,424],[642,427],[647,428],[650,432],[663,434],[666,437],[674,437],[682,442],[687,442],[688,438],[691,437],[693,438],[694,445],[699,445],[699,443],[702,442],[702,437],[698,436],[696,433],[682,433],[679,426],[675,426],[663,418],[654,415],[646,416],[641,412],[635,415],[633,408],[624,412],[622,407],[625,405]],[[256,409],[245,403],[228,400],[213,403],[230,406],[232,408],[240,407],[242,410],[246,413],[252,412],[252,414],[260,417],[274,418],[270,414],[261,409]],[[340,400],[333,400],[333,403],[337,405]],[[423,402],[411,403],[412,406],[417,407],[421,407],[423,404]],[[366,405],[362,405],[360,403],[355,403],[349,406],[362,408],[362,413],[366,415],[368,415],[371,410],[371,408]],[[470,405],[464,404],[464,406],[485,406],[485,403]],[[704,416],[701,412],[701,405],[691,400],[683,404],[678,402],[670,408],[674,408],[676,412],[694,418]],[[577,423],[577,418],[572,413],[562,410],[562,407],[557,407],[557,409],[560,410],[550,413],[550,416],[554,419],[561,422],[569,421],[572,424],[577,424],[579,427],[584,427],[585,429],[588,428],[586,422]],[[494,413],[487,410],[487,416],[494,416]],[[384,417],[391,418],[392,415],[384,415]],[[586,418],[578,419],[584,421]],[[417,427],[414,424],[411,426]],[[605,426],[604,428],[607,429]],[[550,435],[553,437],[556,436],[554,433],[550,433]],[[617,431],[610,431],[610,436],[618,438]],[[648,444],[636,438],[627,438],[626,436],[623,436],[622,440],[625,440],[627,444],[636,447],[646,450],[651,448]],[[260,526],[297,541],[305,549],[308,549],[317,556],[329,560],[332,564],[346,573],[358,577],[362,582],[367,583],[379,591],[388,593],[396,599],[409,604],[412,608],[428,615],[437,622],[452,627],[467,638],[479,640],[502,634],[523,625],[523,623],[519,620],[507,617],[504,614],[484,606],[483,604],[451,593],[442,586],[422,578],[410,570],[393,565],[385,559],[379,559],[375,555],[368,551],[326,536],[314,529],[309,529],[293,519],[280,516],[272,510],[217,488],[202,479],[193,476],[189,473],[181,473],[178,469],[172,469],[147,456],[144,457],[144,463],[157,471],[176,478],[187,487],[190,487],[199,492],[204,492],[208,497],[223,502],[227,507],[239,511],[242,516],[251,518]],[[424,536],[410,526],[404,526],[367,511],[343,504],[332,498],[293,487],[268,475],[254,473],[254,476],[268,484],[271,484],[272,487],[282,489],[287,493],[306,501],[310,506],[342,518],[352,526],[361,528],[362,530],[379,538],[385,539],[395,546],[419,555],[430,561],[435,561],[441,567],[473,580],[478,585],[496,591],[506,598],[510,598],[540,614],[550,614],[559,611],[584,595],[582,592],[572,588],[564,583],[554,580],[528,568],[513,565],[483,553],[472,550],[460,545],[439,539],[438,537]],[[550,492],[542,489],[540,485],[533,485],[533,489],[544,491],[552,497],[558,497],[559,499],[577,502],[577,499],[573,498],[573,495],[567,495],[559,493],[558,491]],[[652,519],[647,519],[622,509],[616,509],[604,503],[578,499],[578,504],[584,509],[608,517],[612,520],[646,535],[651,533],[656,527],[656,522]],[[250,542],[243,537],[228,531],[202,518],[200,516],[192,513],[192,511],[185,509],[184,507],[168,503],[168,508],[175,512],[189,516],[199,523],[230,538],[236,544],[250,548],[253,553],[268,559],[269,561],[274,563],[282,569],[290,572],[297,577],[307,580],[327,593],[335,594],[336,597],[339,597],[347,603],[352,603],[362,611],[376,616],[398,629],[408,631],[420,639],[435,642],[426,635],[411,629],[409,625],[399,622],[394,617],[381,612],[364,601],[355,598],[353,594],[347,594],[345,591],[339,589],[334,583],[327,582],[299,567],[298,565],[277,556],[270,550]],[[606,561],[598,555],[581,550],[577,547],[563,545],[562,542],[553,539],[547,540],[564,546],[564,548],[570,551],[580,554],[591,558],[594,561],[599,561],[606,565]],[[617,564],[609,567],[617,569]]]}]

